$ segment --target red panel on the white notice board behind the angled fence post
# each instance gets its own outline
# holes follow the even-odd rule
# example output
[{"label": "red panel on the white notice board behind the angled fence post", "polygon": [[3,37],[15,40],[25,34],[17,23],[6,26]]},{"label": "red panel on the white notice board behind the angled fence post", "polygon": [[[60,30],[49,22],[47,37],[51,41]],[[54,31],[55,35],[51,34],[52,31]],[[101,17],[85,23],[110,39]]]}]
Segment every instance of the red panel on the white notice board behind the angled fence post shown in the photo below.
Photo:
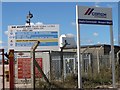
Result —
[{"label": "red panel on the white notice board behind the angled fence post", "polygon": [[[36,61],[42,68],[42,58],[36,58]],[[18,58],[18,79],[31,78],[31,59],[30,58]],[[41,74],[35,68],[36,77],[41,77]]]}]

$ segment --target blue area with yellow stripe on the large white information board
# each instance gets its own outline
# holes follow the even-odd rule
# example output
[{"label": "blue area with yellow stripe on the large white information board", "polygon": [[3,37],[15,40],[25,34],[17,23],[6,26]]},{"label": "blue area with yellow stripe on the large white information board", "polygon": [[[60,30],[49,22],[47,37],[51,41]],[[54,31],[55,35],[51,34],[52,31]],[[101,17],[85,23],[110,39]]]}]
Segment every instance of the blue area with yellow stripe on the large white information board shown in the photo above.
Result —
[{"label": "blue area with yellow stripe on the large white information board", "polygon": [[31,47],[36,40],[40,41],[39,46],[57,46],[57,31],[17,31],[15,32],[16,47]]}]

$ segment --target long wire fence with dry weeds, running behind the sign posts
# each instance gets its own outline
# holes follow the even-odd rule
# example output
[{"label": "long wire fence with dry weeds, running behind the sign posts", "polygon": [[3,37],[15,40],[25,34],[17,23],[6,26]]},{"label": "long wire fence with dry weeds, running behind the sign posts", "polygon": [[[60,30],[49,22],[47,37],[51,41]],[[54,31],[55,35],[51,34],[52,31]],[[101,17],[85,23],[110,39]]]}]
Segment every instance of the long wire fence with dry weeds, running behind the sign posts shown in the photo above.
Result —
[{"label": "long wire fence with dry weeds, running behind the sign posts", "polygon": [[[35,66],[36,88],[77,88],[78,62],[75,52],[63,52],[61,65],[60,52],[36,52],[35,60],[40,69]],[[116,61],[116,59],[115,59]],[[30,52],[15,53],[15,87],[31,88],[31,54]],[[112,62],[109,55],[94,56],[91,53],[81,54],[82,87],[104,88],[112,87]],[[63,66],[63,70],[61,70]],[[120,84],[119,64],[116,62],[116,85]]]}]

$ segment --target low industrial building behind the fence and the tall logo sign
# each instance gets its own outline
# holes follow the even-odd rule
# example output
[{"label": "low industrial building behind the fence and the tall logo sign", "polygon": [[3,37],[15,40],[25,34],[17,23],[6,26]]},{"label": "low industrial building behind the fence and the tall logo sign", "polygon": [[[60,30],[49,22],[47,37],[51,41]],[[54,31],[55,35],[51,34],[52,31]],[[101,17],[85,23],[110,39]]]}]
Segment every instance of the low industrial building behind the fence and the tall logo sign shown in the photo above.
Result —
[{"label": "low industrial building behind the fence and the tall logo sign", "polygon": [[[120,46],[114,46],[115,62],[118,62],[117,55],[120,53]],[[64,76],[71,73],[77,73],[77,52],[76,48],[67,48],[63,50]],[[101,68],[111,68],[110,59],[111,46],[106,44],[81,46],[81,66],[83,72],[88,72],[89,68],[93,73],[99,72]],[[52,70],[55,77],[60,76],[61,71],[61,52],[51,52]]]}]

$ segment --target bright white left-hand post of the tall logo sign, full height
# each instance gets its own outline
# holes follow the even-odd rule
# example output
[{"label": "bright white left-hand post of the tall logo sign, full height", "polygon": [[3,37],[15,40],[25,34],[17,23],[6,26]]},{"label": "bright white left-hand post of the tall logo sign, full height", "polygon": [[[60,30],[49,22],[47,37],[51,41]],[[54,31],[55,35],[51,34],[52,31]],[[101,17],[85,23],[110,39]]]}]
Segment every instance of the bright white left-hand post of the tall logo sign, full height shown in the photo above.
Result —
[{"label": "bright white left-hand post of the tall logo sign, full height", "polygon": [[82,88],[81,58],[80,58],[80,26],[78,24],[78,6],[76,5],[76,28],[77,28],[77,57],[78,57],[78,88]]}]

